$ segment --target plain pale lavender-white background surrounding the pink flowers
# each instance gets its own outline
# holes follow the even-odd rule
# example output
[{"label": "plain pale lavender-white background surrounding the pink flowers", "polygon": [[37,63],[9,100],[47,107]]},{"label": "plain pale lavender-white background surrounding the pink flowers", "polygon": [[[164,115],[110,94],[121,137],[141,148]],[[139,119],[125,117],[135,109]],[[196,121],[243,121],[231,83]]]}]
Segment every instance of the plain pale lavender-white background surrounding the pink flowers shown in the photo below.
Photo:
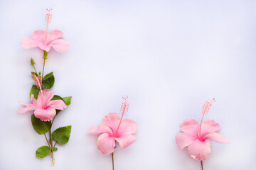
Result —
[{"label": "plain pale lavender-white background surrounding the pink flowers", "polygon": [[[73,96],[53,125],[72,125],[55,166],[50,155],[35,157],[46,141],[33,130],[31,113],[17,114],[18,101],[29,102],[30,58],[38,70],[43,62],[41,50],[24,50],[20,40],[45,30],[49,7],[50,29],[65,33],[70,50],[50,50],[46,73],[54,72],[55,94]],[[137,142],[115,150],[117,170],[201,169],[187,149],[178,150],[175,136],[186,118],[201,120],[213,97],[205,118],[220,123],[230,144],[211,141],[204,168],[256,169],[255,8],[256,1],[242,0],[1,0],[0,169],[111,169],[111,156],[102,156],[97,135],[86,131],[118,113],[124,94],[125,118],[138,132]]]}]

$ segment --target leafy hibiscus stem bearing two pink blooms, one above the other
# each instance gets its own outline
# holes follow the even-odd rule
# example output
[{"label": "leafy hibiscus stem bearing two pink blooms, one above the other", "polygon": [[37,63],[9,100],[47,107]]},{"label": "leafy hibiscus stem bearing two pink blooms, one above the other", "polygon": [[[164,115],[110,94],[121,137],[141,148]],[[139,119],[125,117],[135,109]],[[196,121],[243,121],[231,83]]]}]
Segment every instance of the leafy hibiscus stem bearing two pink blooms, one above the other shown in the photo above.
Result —
[{"label": "leafy hibiscus stem bearing two pink blooms, one above the other", "polygon": [[[43,71],[36,71],[36,63],[31,58],[31,65],[35,72],[31,72],[31,77],[35,84],[31,87],[30,100],[31,103],[20,102],[21,105],[25,106],[21,108],[18,113],[26,113],[33,111],[31,115],[31,123],[33,129],[39,134],[46,137],[47,145],[39,147],[36,150],[36,157],[46,157],[48,153],[52,158],[53,164],[55,164],[54,152],[58,150],[55,145],[58,143],[64,145],[70,138],[71,125],[58,128],[52,132],[51,128],[57,115],[61,115],[60,111],[63,111],[67,106],[70,105],[71,96],[60,97],[55,95],[51,88],[54,85],[55,77],[53,72],[44,76],[44,68],[46,59],[48,59],[48,51],[51,47],[57,52],[68,51],[70,43],[66,40],[62,40],[64,34],[60,30],[50,30],[48,27],[52,19],[52,9],[47,9],[46,13],[46,31],[36,30],[31,37],[22,38],[21,45],[23,48],[28,49],[31,47],[39,47],[43,50]],[[48,137],[46,134],[48,133]],[[55,142],[53,144],[53,142]]]}]

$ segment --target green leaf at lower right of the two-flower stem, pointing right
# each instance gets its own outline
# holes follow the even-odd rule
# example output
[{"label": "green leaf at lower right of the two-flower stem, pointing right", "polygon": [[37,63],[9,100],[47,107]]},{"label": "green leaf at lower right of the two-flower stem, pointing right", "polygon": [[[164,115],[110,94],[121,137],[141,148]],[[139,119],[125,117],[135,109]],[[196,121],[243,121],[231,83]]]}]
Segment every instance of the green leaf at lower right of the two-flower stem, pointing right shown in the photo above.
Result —
[{"label": "green leaf at lower right of the two-flower stem, pointing right", "polygon": [[70,132],[71,125],[58,128],[53,132],[53,139],[61,145],[66,144],[70,138]]}]

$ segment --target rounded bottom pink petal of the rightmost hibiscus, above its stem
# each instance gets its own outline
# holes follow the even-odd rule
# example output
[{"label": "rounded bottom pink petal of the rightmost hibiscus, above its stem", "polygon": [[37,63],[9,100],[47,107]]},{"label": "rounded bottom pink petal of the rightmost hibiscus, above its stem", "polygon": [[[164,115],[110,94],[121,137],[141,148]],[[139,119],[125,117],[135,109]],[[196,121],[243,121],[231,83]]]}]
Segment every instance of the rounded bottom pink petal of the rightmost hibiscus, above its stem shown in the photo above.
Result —
[{"label": "rounded bottom pink petal of the rightmost hibiscus, above its stem", "polygon": [[189,145],[188,154],[198,161],[207,159],[210,154],[210,141],[205,140],[202,142],[200,140],[195,140],[191,145]]}]

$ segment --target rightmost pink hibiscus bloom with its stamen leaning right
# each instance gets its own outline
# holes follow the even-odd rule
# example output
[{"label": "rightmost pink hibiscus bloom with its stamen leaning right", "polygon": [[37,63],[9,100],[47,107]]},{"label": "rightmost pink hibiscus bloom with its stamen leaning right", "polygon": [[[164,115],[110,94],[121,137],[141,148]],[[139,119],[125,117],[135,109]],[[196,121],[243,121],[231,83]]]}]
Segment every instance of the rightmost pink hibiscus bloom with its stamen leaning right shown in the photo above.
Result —
[{"label": "rightmost pink hibiscus bloom with its stamen leaning right", "polygon": [[[208,113],[210,106],[215,99],[212,101],[206,101],[203,105],[203,116]],[[203,161],[208,158],[210,154],[210,141],[228,143],[228,140],[218,134],[220,125],[215,123],[215,120],[206,120],[203,123],[203,117],[201,124],[195,119],[186,119],[180,125],[181,133],[176,135],[176,143],[178,148],[182,150],[184,147],[188,147],[188,154],[198,161]]]}]

